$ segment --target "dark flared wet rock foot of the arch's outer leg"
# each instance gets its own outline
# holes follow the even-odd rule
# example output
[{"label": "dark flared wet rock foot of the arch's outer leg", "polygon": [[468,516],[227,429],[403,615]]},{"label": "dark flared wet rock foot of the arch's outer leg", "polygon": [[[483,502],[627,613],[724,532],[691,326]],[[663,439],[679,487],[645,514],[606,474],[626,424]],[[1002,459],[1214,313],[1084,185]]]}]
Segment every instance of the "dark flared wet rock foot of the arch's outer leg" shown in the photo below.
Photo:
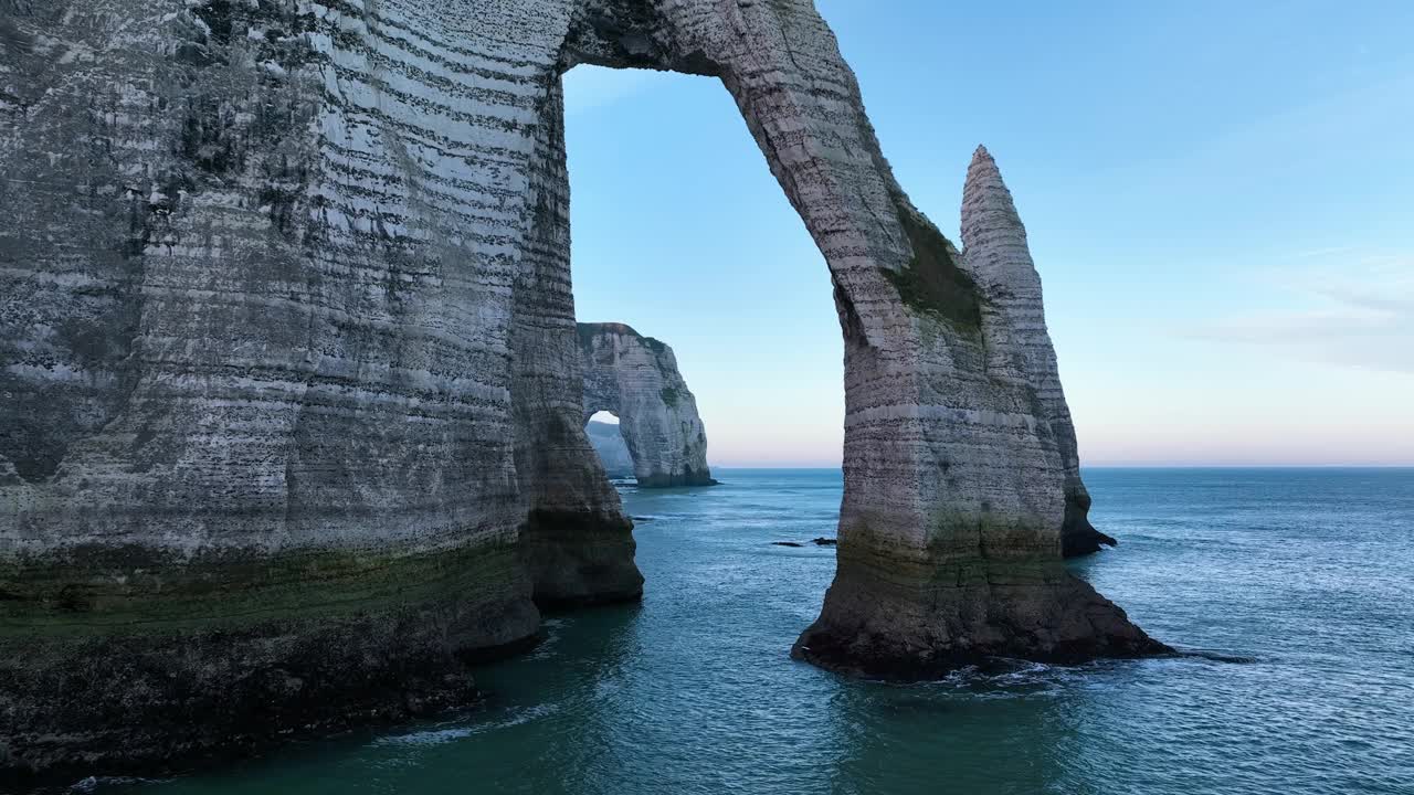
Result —
[{"label": "dark flared wet rock foot of the arch's outer leg", "polygon": [[790,656],[839,673],[935,679],[998,658],[1073,665],[1175,654],[1059,563],[973,562],[926,581],[841,563]]}]

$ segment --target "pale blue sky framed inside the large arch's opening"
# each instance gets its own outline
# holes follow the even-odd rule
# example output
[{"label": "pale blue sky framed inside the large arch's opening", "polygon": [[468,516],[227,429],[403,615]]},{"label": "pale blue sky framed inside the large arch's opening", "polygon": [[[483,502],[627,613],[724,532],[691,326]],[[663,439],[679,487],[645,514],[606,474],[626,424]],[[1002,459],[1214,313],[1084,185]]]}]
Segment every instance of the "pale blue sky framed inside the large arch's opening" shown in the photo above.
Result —
[{"label": "pale blue sky framed inside the large arch's opening", "polygon": [[829,269],[731,95],[595,65],[570,69],[564,91],[577,318],[672,348],[714,467],[837,468]]}]

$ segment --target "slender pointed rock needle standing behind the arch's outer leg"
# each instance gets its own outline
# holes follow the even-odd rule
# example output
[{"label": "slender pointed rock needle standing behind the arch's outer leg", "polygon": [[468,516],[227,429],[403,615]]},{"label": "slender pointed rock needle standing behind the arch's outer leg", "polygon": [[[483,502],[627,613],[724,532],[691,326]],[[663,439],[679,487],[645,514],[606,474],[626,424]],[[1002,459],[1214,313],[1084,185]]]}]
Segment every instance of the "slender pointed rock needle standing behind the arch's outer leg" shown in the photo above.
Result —
[{"label": "slender pointed rock needle standing behind the arch's outer leg", "polygon": [[1021,224],[1011,191],[987,147],[977,147],[967,168],[962,214],[964,267],[988,296],[987,314],[995,314],[988,342],[987,369],[993,378],[1029,385],[1036,395],[1036,419],[1051,426],[1051,436],[1065,468],[1065,519],[1060,552],[1065,557],[1089,555],[1114,539],[1090,523],[1090,492],[1080,481],[1080,453],[1070,407],[1066,406],[1056,368],[1055,347],[1046,332],[1041,300],[1041,274],[1031,260],[1027,228]]}]

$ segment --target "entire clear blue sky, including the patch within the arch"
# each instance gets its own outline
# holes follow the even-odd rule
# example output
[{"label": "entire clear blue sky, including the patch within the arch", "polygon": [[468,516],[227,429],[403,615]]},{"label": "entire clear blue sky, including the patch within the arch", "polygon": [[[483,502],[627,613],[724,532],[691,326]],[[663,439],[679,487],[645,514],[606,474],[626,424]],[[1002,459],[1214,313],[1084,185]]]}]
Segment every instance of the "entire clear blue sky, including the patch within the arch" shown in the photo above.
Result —
[{"label": "entire clear blue sky, including the patch within the arch", "polygon": [[[957,240],[986,143],[1087,464],[1414,464],[1414,3],[817,0]],[[836,465],[824,260],[714,79],[566,78],[580,320],[677,352],[717,465]]]}]

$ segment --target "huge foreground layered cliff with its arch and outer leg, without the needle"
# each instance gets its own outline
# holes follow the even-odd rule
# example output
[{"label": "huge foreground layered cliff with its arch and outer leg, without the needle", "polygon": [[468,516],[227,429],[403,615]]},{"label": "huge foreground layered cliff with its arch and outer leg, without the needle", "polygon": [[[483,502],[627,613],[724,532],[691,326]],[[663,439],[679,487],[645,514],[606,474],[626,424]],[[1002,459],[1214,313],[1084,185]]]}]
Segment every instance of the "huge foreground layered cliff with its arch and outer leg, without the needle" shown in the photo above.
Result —
[{"label": "huge foreground layered cliff with its arch and outer leg, without the needle", "polygon": [[715,75],[829,263],[844,669],[1157,648],[1060,569],[1011,323],[806,0],[0,4],[0,765],[160,768],[462,704],[631,600],[585,440],[561,74]]}]

